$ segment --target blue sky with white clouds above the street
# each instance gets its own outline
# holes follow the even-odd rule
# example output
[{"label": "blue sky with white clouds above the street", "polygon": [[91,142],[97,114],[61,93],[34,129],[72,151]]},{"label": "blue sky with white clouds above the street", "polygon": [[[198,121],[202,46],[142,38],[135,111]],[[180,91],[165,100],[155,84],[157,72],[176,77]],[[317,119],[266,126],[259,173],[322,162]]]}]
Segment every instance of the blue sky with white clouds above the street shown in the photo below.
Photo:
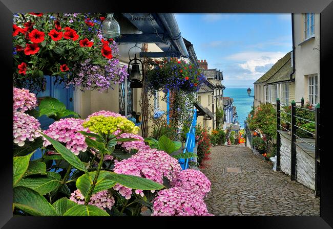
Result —
[{"label": "blue sky with white clouds above the street", "polygon": [[223,71],[226,87],[252,87],[292,51],[291,14],[176,13],[182,36],[198,59]]}]

